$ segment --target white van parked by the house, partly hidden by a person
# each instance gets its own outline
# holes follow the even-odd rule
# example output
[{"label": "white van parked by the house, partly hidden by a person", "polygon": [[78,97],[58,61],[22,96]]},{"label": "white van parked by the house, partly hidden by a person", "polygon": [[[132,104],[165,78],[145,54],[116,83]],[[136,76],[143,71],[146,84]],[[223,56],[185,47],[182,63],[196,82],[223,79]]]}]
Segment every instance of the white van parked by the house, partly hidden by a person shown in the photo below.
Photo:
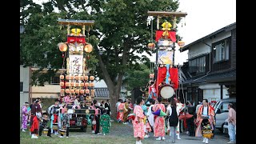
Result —
[{"label": "white van parked by the house, partly hidden by a person", "polygon": [[214,105],[215,110],[215,128],[223,132],[223,126],[225,123],[226,118],[228,117],[228,105],[229,103],[233,103],[234,110],[236,110],[236,98],[225,98],[218,101]]}]

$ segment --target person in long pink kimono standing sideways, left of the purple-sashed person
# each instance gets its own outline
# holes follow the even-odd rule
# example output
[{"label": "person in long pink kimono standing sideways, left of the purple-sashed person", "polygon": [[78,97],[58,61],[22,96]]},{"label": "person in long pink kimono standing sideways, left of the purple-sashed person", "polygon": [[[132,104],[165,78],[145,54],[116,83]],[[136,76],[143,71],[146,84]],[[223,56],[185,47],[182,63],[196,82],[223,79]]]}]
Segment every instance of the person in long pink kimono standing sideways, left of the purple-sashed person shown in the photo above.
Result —
[{"label": "person in long pink kimono standing sideways, left of the purple-sashed person", "polygon": [[141,140],[144,139],[144,114],[142,110],[142,105],[144,104],[143,98],[137,98],[137,105],[134,106],[135,118],[132,121],[134,126],[134,138],[136,138],[136,144],[142,144]]}]

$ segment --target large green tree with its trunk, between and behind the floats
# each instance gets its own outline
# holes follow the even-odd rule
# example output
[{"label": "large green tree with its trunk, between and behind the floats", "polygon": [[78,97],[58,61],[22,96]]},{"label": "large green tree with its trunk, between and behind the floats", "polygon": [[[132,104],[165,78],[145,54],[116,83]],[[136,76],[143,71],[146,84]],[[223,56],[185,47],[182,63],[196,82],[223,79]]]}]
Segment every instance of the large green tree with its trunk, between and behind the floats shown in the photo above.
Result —
[{"label": "large green tree with its trunk, between and behind the floats", "polygon": [[[54,13],[52,7],[60,13]],[[151,51],[146,47],[150,41],[150,26],[146,25],[147,11],[177,9],[178,1],[169,0],[50,1],[43,5],[41,13],[34,14],[34,11],[30,11],[31,16],[26,23],[26,29],[32,30],[32,34],[30,38],[24,38],[26,40],[22,38],[23,61],[30,65],[38,63],[38,66],[42,67],[47,66],[47,62],[52,66],[60,66],[62,60],[58,58],[59,51],[55,46],[58,42],[64,42],[66,34],[64,30],[56,29],[58,25],[54,23],[57,21],[55,18],[94,20],[94,27],[90,30],[90,43],[94,46],[92,54],[98,59],[94,75],[106,82],[110,92],[112,118],[115,118],[114,106],[120,95],[123,76],[129,70],[129,66],[134,66],[146,58],[137,54],[146,52],[151,55]],[[166,20],[170,21],[170,18]],[[154,23],[155,21],[154,19]],[[30,28],[30,25],[34,28]],[[48,30],[53,32],[49,34]],[[38,50],[41,54],[37,54]],[[42,53],[46,51],[52,54],[51,59],[43,59]]]}]

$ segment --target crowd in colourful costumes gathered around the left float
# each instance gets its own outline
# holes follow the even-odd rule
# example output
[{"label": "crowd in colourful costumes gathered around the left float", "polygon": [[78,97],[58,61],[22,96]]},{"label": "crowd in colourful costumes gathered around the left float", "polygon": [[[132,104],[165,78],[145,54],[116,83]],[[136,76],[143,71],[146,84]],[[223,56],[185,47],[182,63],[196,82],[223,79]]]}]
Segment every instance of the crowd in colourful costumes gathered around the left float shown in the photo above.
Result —
[{"label": "crowd in colourful costumes gathered around the left float", "polygon": [[[97,102],[95,99],[90,102],[83,95],[75,94],[67,95],[62,100],[56,99],[44,113],[42,113],[40,98],[37,98],[32,104],[25,102],[22,106],[22,131],[29,130],[31,138],[42,136],[42,131],[47,131],[48,137],[55,134],[64,138],[64,134],[66,134],[66,138],[69,138],[71,114],[68,113],[68,105],[73,105],[72,109],[93,109],[95,114],[89,116],[92,133],[109,134],[111,126],[109,99],[106,102]],[[98,114],[99,111],[100,114]]]}]

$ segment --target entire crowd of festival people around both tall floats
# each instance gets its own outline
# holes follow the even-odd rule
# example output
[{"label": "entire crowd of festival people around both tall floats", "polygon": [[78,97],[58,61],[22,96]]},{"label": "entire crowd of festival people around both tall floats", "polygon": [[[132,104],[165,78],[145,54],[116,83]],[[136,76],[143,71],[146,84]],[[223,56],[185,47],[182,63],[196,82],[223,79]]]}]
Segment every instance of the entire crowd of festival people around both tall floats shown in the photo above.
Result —
[{"label": "entire crowd of festival people around both tall floats", "polygon": [[[22,131],[30,126],[31,138],[38,138],[42,135],[42,130],[48,130],[47,136],[58,135],[60,130],[65,130],[66,138],[69,137],[70,114],[67,113],[66,104],[73,104],[74,109],[94,109],[95,114],[90,115],[92,123],[92,133],[109,134],[111,126],[110,103],[106,102],[86,102],[81,96],[66,97],[64,102],[56,99],[54,105],[50,106],[46,113],[42,113],[40,98],[32,104],[24,103],[22,107]],[[210,138],[202,135],[202,130],[214,130],[214,107],[207,99],[198,102],[194,106],[191,102],[183,104],[179,98],[169,98],[167,104],[162,103],[162,98],[145,99],[137,98],[133,104],[130,99],[118,99],[116,103],[117,122],[123,124],[132,123],[134,126],[134,138],[136,144],[141,144],[142,139],[154,137],[156,141],[166,139],[166,134],[170,135],[171,142],[182,139],[180,133],[189,134],[192,137],[202,137],[204,143],[209,143]],[[98,114],[98,110],[101,114]],[[230,106],[228,121],[235,123],[235,111]],[[58,123],[58,130],[53,130],[54,124]],[[234,124],[235,125],[235,124]],[[63,134],[59,136],[63,138]],[[214,138],[214,135],[211,137]],[[230,135],[230,143],[234,142],[234,136]]]}]

